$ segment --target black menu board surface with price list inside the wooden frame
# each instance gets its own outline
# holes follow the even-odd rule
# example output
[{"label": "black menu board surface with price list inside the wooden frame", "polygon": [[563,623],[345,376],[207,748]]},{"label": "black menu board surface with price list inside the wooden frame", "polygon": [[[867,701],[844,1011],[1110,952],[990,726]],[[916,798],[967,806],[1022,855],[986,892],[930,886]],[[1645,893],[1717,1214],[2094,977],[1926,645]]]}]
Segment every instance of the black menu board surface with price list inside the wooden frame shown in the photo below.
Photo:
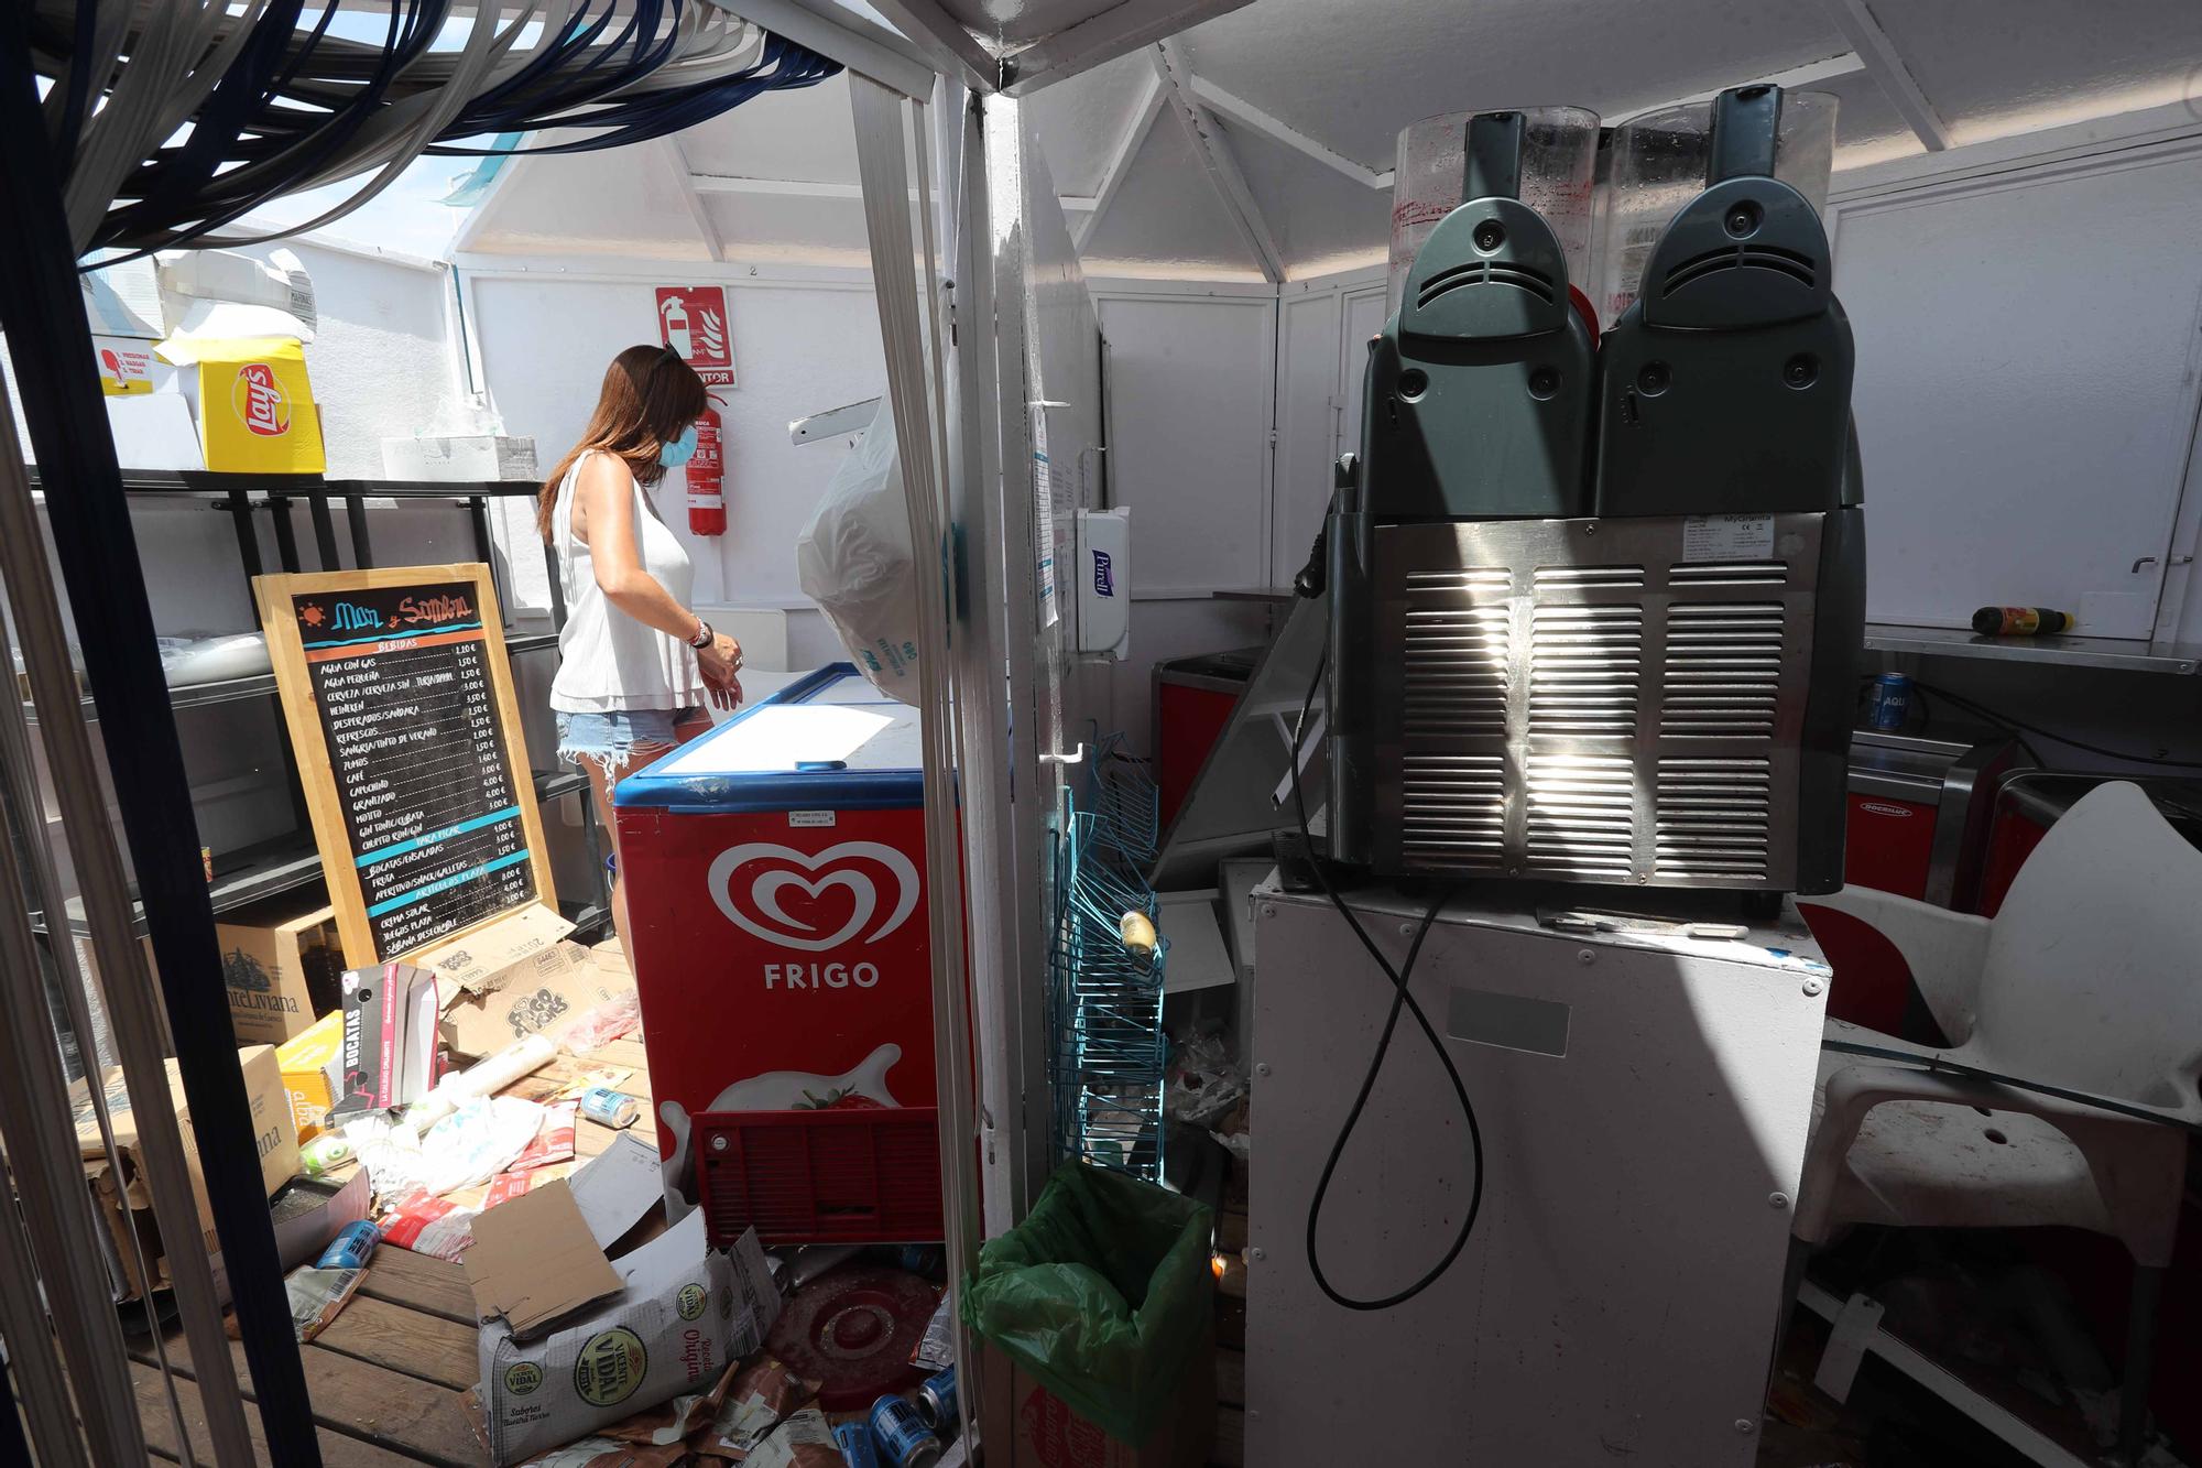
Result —
[{"label": "black menu board surface with price list inside the wooden frame", "polygon": [[469,582],[295,595],[379,959],[535,897]]}]

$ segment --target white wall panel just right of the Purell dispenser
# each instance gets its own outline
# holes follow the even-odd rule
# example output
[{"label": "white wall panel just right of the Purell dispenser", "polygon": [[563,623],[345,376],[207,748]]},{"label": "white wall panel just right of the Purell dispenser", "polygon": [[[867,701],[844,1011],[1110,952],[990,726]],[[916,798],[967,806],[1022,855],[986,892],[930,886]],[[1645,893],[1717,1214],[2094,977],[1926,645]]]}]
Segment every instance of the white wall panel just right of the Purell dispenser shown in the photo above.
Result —
[{"label": "white wall panel just right of the Purell dispenser", "polygon": [[1134,595],[1266,586],[1275,298],[1094,295],[1110,344],[1110,496],[1132,507]]}]

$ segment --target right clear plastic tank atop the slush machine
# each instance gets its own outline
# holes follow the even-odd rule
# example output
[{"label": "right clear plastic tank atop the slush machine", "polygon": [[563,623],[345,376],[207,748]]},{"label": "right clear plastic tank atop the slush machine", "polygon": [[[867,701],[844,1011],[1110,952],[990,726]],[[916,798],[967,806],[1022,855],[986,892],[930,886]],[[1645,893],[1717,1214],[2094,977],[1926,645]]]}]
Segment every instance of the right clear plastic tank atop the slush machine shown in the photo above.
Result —
[{"label": "right clear plastic tank atop the slush machine", "polygon": [[[1828,174],[1834,170],[1834,108],[1836,101],[1828,93],[1781,95],[1775,179],[1812,201],[1814,209],[1828,207]],[[1682,212],[1682,205],[1704,192],[1711,134],[1711,101],[1660,108],[1614,128],[1599,165],[1599,192],[1603,194],[1599,198],[1599,289],[1585,291],[1599,309],[1601,326],[1612,326],[1629,309],[1660,231]]]}]

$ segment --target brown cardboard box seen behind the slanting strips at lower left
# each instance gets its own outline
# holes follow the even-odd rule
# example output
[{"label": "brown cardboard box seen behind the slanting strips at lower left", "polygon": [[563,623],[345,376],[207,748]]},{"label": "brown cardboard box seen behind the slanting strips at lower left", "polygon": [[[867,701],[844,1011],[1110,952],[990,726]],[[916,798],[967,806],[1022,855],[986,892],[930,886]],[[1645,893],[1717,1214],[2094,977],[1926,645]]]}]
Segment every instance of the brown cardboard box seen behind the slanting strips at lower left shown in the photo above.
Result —
[{"label": "brown cardboard box seen behind the slanting strips at lower left", "polygon": [[[273,1197],[297,1173],[297,1131],[291,1126],[291,1104],[284,1095],[282,1069],[277,1067],[275,1049],[269,1045],[240,1049],[238,1065],[244,1071],[244,1091],[251,1102],[260,1181],[266,1195]],[[198,1133],[192,1129],[192,1111],[183,1095],[183,1069],[176,1060],[167,1062],[167,1100],[176,1111],[176,1124],[183,1133],[183,1162],[192,1177],[192,1199],[198,1203],[200,1239],[196,1243],[207,1254],[214,1254],[220,1243],[214,1234],[214,1210],[207,1203],[207,1181],[198,1162]],[[108,1254],[117,1298],[137,1298],[167,1283],[167,1270],[161,1265],[167,1245],[159,1239],[152,1221],[152,1188],[145,1184],[137,1111],[130,1104],[130,1093],[123,1089],[121,1069],[108,1071],[108,1118],[115,1126],[115,1148],[121,1155],[117,1170],[108,1162],[99,1137],[99,1118],[92,1113],[92,1098],[86,1082],[77,1080],[68,1091],[70,1115],[77,1126],[77,1151],[86,1159],[86,1186],[106,1223],[108,1237],[101,1252]],[[137,1256],[130,1248],[132,1234],[145,1245],[148,1267],[152,1270],[150,1281],[137,1267]]]}]

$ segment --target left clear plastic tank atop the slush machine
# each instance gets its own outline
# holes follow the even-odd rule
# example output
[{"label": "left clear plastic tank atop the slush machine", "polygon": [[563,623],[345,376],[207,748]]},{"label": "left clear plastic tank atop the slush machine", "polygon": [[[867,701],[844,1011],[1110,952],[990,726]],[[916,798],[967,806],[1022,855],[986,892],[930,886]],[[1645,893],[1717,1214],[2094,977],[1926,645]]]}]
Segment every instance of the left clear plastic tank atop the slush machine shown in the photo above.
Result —
[{"label": "left clear plastic tank atop the slush machine", "polygon": [[[1590,295],[1590,168],[1599,152],[1599,115],[1588,108],[1519,108],[1522,203],[1537,209],[1568,256],[1568,280]],[[1392,172],[1392,300],[1407,291],[1414,251],[1462,203],[1469,119],[1475,112],[1425,117],[1398,134]]]}]

